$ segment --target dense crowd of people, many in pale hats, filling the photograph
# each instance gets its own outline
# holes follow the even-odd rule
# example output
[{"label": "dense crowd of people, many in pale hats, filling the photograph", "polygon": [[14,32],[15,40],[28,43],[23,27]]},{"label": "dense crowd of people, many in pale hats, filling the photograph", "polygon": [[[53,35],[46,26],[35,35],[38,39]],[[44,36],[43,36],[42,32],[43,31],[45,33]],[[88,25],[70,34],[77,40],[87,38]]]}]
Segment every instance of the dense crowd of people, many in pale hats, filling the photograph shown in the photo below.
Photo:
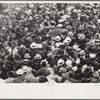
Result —
[{"label": "dense crowd of people, many in pale hats, filling the photograph", "polygon": [[0,12],[0,83],[99,82],[100,4],[25,3]]}]

